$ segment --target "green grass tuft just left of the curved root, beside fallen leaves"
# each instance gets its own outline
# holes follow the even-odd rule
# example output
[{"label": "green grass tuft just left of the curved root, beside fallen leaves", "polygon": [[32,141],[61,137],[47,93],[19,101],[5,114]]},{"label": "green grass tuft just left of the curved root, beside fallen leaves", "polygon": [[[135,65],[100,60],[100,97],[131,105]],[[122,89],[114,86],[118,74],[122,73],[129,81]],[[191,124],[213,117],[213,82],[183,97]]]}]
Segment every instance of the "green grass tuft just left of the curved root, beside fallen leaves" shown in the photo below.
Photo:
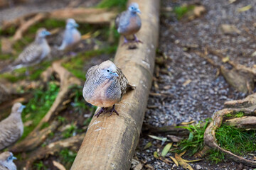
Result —
[{"label": "green grass tuft just left of the curved root, beside fallen leaves", "polygon": [[185,128],[189,130],[189,137],[186,140],[182,140],[178,146],[181,148],[181,152],[187,150],[191,155],[196,154],[196,152],[203,149],[203,135],[207,128],[210,120],[206,119],[205,123],[198,123],[196,125],[178,126],[178,128]]}]

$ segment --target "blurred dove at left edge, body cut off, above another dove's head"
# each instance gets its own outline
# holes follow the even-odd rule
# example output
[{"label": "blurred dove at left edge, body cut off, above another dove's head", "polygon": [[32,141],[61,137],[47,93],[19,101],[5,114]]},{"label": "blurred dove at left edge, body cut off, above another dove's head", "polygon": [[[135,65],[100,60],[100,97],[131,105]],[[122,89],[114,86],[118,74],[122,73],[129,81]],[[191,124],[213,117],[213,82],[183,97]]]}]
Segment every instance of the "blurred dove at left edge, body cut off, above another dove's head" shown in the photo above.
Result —
[{"label": "blurred dove at left edge, body cut off, above another dove's head", "polygon": [[0,122],[0,150],[13,145],[23,134],[23,123],[21,103],[15,103],[11,108],[11,114]]}]

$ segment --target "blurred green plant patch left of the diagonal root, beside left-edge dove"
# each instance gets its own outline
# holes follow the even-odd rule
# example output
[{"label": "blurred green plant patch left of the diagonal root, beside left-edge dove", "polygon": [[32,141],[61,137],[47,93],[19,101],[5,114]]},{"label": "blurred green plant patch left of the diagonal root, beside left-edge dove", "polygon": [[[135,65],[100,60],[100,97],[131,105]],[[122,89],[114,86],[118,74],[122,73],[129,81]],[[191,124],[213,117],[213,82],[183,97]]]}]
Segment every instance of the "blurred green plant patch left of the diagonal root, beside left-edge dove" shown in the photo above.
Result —
[{"label": "blurred green plant patch left of the diagonal root, beside left-edge dove", "polygon": [[32,120],[32,125],[24,127],[24,132],[20,140],[23,140],[41,121],[44,115],[49,111],[56,96],[58,95],[60,87],[50,82],[46,90],[37,89],[34,91],[34,97],[26,104],[26,108],[22,113],[22,120],[25,123]]}]

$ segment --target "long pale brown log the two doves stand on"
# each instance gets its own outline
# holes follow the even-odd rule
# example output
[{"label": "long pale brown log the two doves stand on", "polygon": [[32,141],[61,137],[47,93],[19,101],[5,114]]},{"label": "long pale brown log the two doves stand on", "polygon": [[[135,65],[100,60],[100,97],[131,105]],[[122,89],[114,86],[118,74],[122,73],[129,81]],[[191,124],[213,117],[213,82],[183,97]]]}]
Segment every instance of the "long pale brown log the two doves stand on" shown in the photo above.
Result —
[{"label": "long pale brown log the two doves stand on", "polygon": [[[129,4],[132,2],[134,0]],[[137,35],[144,43],[137,45],[135,50],[128,50],[127,46],[121,46],[123,38],[120,38],[114,58],[130,84],[137,88],[125,94],[116,105],[119,116],[105,114],[92,118],[72,170],[125,170],[131,165],[151,88],[159,36],[159,0],[137,3],[142,11],[142,29]]]}]

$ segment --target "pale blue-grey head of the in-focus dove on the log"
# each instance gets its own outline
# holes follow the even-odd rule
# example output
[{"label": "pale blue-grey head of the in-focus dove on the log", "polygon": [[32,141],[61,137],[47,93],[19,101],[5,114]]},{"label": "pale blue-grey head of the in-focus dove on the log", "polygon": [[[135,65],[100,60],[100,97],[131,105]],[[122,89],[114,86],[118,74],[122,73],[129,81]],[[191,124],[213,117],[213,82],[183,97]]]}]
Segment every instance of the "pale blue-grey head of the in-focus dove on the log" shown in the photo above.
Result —
[{"label": "pale blue-grey head of the in-focus dove on the log", "polygon": [[102,64],[99,65],[99,70],[100,70],[100,74],[102,74],[103,77],[107,79],[119,77],[119,75],[117,74],[117,67],[110,60],[102,62]]}]

